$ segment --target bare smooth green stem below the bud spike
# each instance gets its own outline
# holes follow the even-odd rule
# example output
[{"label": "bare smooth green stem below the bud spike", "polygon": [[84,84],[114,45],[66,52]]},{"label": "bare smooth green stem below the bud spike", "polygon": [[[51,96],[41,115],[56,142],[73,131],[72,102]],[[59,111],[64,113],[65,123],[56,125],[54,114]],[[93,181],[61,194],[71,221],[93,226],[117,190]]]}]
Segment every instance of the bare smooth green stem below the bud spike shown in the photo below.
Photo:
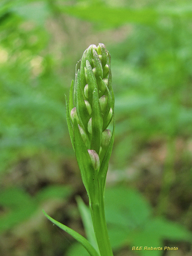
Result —
[{"label": "bare smooth green stem below the bud spike", "polygon": [[95,203],[92,202],[90,209],[100,254],[101,256],[113,256],[105,220],[104,198],[102,191],[99,193],[99,201]]}]

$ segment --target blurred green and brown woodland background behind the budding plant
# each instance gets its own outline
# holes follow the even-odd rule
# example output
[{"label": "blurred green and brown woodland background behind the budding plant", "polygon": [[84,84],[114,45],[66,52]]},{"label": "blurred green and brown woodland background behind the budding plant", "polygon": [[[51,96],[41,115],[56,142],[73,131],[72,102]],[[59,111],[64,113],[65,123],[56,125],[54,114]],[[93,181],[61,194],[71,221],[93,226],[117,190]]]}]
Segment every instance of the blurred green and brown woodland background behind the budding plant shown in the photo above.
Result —
[{"label": "blurred green and brown woodland background behind the budding plant", "polygon": [[192,255],[191,42],[186,0],[0,1],[0,255],[87,255],[42,209],[85,235],[64,99],[98,43],[115,95],[105,197],[114,256]]}]

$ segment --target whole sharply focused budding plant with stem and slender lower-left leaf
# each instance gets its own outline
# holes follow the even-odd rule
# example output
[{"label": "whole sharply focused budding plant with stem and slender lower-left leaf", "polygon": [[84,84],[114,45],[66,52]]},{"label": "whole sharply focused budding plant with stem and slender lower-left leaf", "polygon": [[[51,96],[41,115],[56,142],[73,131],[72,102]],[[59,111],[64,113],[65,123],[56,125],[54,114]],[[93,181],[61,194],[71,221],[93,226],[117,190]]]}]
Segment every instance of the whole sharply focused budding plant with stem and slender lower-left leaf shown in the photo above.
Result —
[{"label": "whole sharply focused budding plant with stem and slender lower-left leaf", "polygon": [[[89,196],[92,224],[97,241],[95,247],[74,230],[44,214],[78,240],[90,255],[112,256],[103,199],[115,126],[111,57],[103,44],[97,47],[91,45],[82,55],[78,71],[77,65],[75,83],[71,82],[69,103],[66,97],[66,120],[82,181]],[[106,128],[112,118],[111,132]],[[93,241],[95,241],[94,237]]]}]

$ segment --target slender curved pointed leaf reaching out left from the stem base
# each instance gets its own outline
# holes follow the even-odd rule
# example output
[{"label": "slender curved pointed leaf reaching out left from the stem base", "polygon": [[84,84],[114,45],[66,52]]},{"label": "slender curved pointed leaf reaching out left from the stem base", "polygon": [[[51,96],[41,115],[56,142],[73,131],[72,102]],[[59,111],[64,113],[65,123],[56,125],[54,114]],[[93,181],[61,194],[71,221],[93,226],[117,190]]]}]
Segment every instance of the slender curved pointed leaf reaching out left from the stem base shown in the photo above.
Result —
[{"label": "slender curved pointed leaf reaching out left from the stem base", "polygon": [[68,226],[65,226],[64,224],[58,222],[57,220],[54,220],[51,218],[44,210],[43,214],[55,225],[57,225],[59,228],[63,229],[65,232],[73,236],[82,246],[85,247],[85,249],[89,252],[91,256],[99,256],[95,248],[90,244],[89,241],[87,241],[86,238],[84,238],[82,235],[74,231],[73,229],[70,229]]}]

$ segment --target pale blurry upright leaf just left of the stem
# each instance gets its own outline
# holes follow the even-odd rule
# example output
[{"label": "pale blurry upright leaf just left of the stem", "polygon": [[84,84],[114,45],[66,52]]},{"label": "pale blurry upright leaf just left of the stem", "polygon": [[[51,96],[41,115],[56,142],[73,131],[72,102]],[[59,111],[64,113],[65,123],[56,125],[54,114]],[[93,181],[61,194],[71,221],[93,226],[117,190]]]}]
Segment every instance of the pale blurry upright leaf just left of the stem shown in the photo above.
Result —
[{"label": "pale blurry upright leaf just left of the stem", "polygon": [[94,248],[97,250],[98,254],[100,254],[98,250],[97,240],[95,237],[90,209],[89,207],[86,206],[86,204],[80,196],[76,197],[76,201],[78,203],[78,208],[81,214],[81,219],[85,228],[87,239],[88,241],[90,241],[92,246],[94,246]]}]

